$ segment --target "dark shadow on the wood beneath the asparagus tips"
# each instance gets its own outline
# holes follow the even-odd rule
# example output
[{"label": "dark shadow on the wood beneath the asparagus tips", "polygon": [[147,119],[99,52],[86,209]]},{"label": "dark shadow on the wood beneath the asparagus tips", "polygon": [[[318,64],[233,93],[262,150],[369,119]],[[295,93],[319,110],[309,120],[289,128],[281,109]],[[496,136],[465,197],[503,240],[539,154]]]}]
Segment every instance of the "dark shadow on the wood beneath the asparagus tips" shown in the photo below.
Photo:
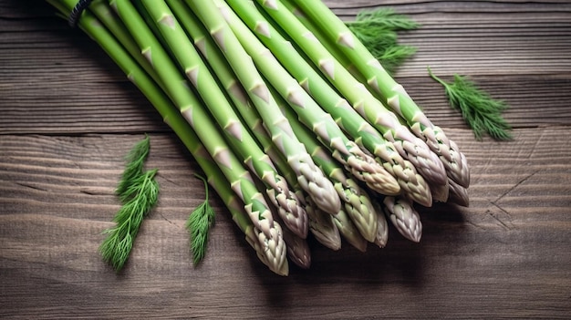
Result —
[{"label": "dark shadow on the wood beneath the asparagus tips", "polygon": [[[451,243],[466,241],[463,239],[466,226],[462,208],[452,204],[420,208],[419,213],[423,222],[420,243],[405,239],[392,225],[389,225],[387,246],[381,249],[369,243],[365,253],[345,241],[343,247],[334,252],[310,236],[312,265],[309,269],[303,270],[290,263],[287,277],[259,277],[266,289],[268,304],[287,304],[284,294],[289,289],[298,290],[299,286],[319,291],[319,288],[347,283],[352,286],[358,284],[362,290],[369,291],[398,284],[412,291],[421,290],[435,276],[433,272],[441,258],[439,255],[448,254]],[[257,269],[256,266],[253,268]],[[280,289],[276,290],[276,287]]]}]

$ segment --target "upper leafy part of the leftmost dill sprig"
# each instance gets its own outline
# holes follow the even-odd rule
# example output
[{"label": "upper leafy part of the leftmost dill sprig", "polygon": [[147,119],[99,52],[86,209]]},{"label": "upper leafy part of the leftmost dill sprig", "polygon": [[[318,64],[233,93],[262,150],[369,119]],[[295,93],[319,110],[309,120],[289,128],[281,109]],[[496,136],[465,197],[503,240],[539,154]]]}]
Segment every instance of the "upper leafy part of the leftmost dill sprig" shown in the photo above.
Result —
[{"label": "upper leafy part of the leftmost dill sprig", "polygon": [[140,177],[150,149],[151,139],[145,135],[145,138],[137,142],[125,157],[125,169],[115,191],[122,201],[126,201],[126,199],[132,196],[133,191],[130,189],[130,186],[134,185],[134,180]]}]

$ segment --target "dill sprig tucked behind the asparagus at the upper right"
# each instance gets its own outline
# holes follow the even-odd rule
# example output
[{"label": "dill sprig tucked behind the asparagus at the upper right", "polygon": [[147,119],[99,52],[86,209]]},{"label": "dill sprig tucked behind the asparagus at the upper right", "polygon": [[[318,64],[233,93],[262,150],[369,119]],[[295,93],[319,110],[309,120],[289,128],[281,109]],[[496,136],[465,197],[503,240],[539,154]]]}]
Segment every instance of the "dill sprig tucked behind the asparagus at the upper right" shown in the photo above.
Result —
[{"label": "dill sprig tucked behind the asparagus at the upper right", "polygon": [[406,59],[416,53],[415,47],[398,43],[398,32],[417,29],[419,24],[405,15],[397,14],[391,8],[362,11],[355,21],[347,22],[346,25],[389,74],[393,74]]}]

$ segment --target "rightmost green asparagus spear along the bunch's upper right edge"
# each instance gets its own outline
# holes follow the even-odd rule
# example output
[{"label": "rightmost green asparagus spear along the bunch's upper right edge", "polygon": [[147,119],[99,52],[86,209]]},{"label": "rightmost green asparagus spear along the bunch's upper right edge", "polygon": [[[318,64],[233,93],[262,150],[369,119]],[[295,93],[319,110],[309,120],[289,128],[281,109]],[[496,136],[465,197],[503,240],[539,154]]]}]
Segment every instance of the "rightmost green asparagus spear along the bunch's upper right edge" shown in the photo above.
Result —
[{"label": "rightmost green asparagus spear along the bunch's upper right edge", "polygon": [[[441,159],[447,174],[463,187],[470,184],[467,161],[458,146],[434,125],[410,98],[406,90],[382,67],[366,46],[322,1],[291,0],[298,5],[335,43],[340,51],[367,78],[369,87],[385,99],[390,108],[406,119],[410,129],[424,139]],[[273,1],[271,1],[273,2]]]}]

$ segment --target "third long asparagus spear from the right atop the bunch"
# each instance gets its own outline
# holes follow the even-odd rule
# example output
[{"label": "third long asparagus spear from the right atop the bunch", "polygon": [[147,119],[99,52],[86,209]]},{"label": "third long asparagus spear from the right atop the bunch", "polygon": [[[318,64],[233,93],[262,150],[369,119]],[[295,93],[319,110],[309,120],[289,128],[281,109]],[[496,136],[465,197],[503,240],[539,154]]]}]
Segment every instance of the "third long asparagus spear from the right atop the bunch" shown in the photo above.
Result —
[{"label": "third long asparagus spear from the right atop the bunch", "polygon": [[[337,91],[327,84],[326,80],[307,63],[304,57],[291,54],[292,50],[285,50],[285,47],[291,47],[290,42],[280,35],[253,4],[245,5],[241,1],[234,0],[229,0],[227,3],[233,7],[236,14],[240,15],[260,41],[272,50],[275,57],[293,77],[296,77],[302,87],[334,117],[339,126],[348,132],[361,147],[377,156],[377,160],[397,178],[403,192],[409,193],[412,199],[425,206],[431,205],[430,188],[417,173],[417,168],[409,160],[405,160],[406,157],[400,155],[399,150],[404,151],[402,148],[396,148],[392,142],[382,137],[379,131],[363,119],[355,108],[351,108],[345,98],[341,98]],[[397,141],[397,144],[405,145],[400,141]],[[407,157],[412,155],[409,152],[404,153]],[[419,161],[416,162],[419,165]]]}]

